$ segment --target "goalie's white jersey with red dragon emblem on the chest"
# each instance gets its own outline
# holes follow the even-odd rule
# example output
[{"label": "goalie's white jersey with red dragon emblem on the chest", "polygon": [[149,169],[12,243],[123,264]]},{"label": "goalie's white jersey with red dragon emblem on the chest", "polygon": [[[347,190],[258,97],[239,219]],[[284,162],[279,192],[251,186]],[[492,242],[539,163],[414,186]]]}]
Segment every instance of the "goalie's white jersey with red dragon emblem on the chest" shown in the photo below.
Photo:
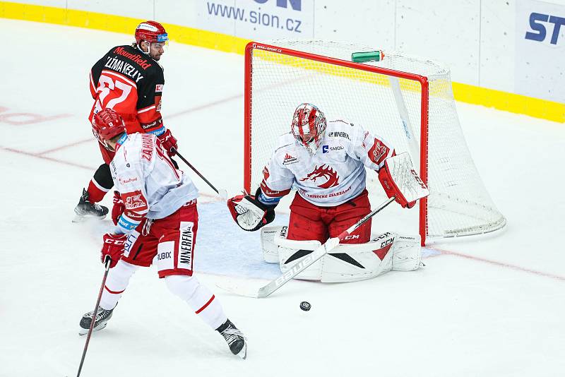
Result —
[{"label": "goalie's white jersey with red dragon emblem on the chest", "polygon": [[355,198],[365,188],[365,167],[376,172],[392,157],[393,147],[362,126],[343,120],[328,121],[314,155],[292,136],[280,136],[270,162],[263,169],[259,201],[276,204],[296,188],[314,205],[332,207]]}]

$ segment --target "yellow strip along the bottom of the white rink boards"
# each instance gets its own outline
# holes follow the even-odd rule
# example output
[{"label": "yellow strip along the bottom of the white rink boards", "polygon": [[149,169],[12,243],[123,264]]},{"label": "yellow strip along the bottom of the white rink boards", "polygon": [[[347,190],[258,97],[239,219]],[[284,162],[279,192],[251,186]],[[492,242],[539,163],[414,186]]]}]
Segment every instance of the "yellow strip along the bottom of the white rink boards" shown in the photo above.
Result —
[{"label": "yellow strip along the bottom of the white rink boards", "polygon": [[[114,16],[105,13],[77,11],[73,9],[55,8],[52,6],[39,6],[32,4],[12,3],[0,1],[0,18],[13,20],[27,20],[57,25],[75,26],[110,32],[132,34],[136,26],[144,20],[125,16]],[[245,45],[249,40],[188,28],[186,26],[163,23],[171,40],[183,44],[191,44],[222,52],[244,54]],[[452,83],[453,95],[460,102],[481,104],[486,107],[525,114],[535,118],[547,119],[565,123],[565,104],[540,100],[539,98],[526,97],[501,90],[481,88],[475,85]]]}]

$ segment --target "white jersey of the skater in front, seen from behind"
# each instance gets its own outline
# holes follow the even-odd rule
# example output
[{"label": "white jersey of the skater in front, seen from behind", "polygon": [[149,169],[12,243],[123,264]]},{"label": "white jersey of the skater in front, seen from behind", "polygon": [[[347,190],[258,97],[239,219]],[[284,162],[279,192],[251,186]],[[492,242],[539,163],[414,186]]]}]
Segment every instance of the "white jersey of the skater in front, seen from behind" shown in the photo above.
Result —
[{"label": "white jersey of the skater in front, seen from behind", "polygon": [[198,197],[192,180],[175,169],[160,140],[150,133],[124,134],[110,171],[126,207],[118,220],[118,233],[130,233],[143,217],[167,217]]}]

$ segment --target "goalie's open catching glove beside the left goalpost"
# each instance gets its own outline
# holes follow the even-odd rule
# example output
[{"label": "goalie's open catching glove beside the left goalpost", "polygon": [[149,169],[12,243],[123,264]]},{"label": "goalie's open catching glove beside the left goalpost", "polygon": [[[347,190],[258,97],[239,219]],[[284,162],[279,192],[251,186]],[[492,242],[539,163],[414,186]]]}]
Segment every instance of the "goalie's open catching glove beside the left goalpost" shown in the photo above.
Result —
[{"label": "goalie's open catching glove beside the left goalpost", "polygon": [[275,220],[275,206],[261,203],[255,195],[234,196],[228,199],[227,208],[230,208],[236,224],[248,232],[261,229]]}]

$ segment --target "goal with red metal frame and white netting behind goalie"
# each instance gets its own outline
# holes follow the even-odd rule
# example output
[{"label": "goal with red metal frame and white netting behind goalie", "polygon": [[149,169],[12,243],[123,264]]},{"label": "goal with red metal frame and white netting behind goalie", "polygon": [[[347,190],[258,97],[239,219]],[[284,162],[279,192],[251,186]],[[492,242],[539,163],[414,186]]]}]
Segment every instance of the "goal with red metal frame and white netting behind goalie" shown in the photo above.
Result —
[{"label": "goal with red metal frame and white netting behind goalie", "polygon": [[[244,188],[256,190],[278,136],[290,132],[298,104],[316,104],[328,121],[359,123],[409,152],[430,195],[420,201],[422,240],[501,229],[461,130],[449,71],[424,59],[384,52],[364,64],[353,52],[374,48],[327,41],[250,42],[245,50]],[[367,172],[371,203],[386,199],[377,174]],[[413,210],[410,210],[412,212]],[[412,212],[413,213],[413,212]],[[399,215],[400,216],[400,215]],[[403,229],[403,232],[409,229]],[[415,232],[415,229],[412,229]]]}]

